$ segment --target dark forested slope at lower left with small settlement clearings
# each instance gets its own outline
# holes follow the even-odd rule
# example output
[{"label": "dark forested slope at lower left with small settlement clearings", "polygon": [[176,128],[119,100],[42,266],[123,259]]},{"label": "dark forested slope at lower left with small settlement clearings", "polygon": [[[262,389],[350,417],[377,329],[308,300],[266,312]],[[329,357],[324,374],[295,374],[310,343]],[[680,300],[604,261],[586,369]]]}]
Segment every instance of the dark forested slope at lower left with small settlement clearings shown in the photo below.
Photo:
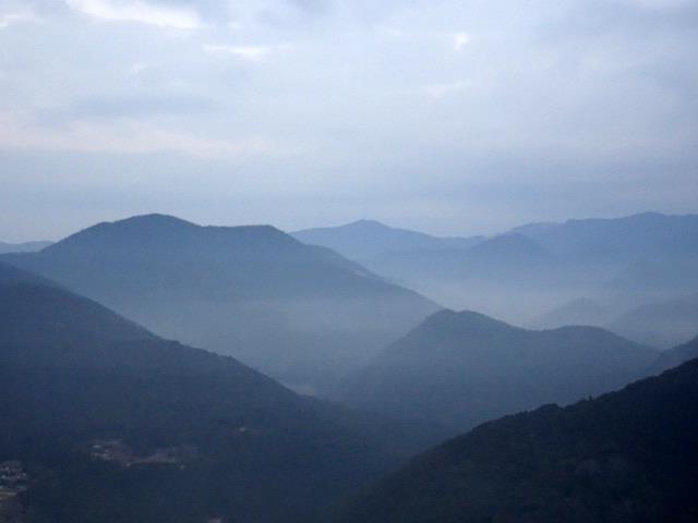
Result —
[{"label": "dark forested slope at lower left with small settlement clearings", "polygon": [[28,476],[8,497],[0,475],[0,515],[9,500],[33,523],[308,522],[429,434],[0,277],[0,464]]}]

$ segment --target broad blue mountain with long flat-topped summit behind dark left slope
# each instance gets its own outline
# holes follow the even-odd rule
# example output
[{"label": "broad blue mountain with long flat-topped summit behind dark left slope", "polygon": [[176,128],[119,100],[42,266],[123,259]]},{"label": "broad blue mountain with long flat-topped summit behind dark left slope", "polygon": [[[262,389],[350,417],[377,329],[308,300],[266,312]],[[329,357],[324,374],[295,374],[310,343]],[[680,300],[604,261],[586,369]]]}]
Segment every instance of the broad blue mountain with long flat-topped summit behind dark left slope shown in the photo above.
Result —
[{"label": "broad blue mountain with long flat-topped summit behind dark left slope", "polygon": [[322,388],[438,307],[273,227],[148,215],[4,255],[159,335]]}]

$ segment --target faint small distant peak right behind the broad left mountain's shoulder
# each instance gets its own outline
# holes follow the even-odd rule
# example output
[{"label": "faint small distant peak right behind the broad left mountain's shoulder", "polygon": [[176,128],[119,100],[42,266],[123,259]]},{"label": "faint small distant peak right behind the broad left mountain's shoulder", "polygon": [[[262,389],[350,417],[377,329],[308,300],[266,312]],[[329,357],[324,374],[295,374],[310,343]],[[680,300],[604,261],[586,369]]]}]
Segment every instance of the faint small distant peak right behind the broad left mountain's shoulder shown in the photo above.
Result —
[{"label": "faint small distant peak right behind the broad left mountain's shoulder", "polygon": [[291,235],[303,243],[322,245],[357,262],[400,253],[468,248],[482,239],[438,238],[396,229],[375,220],[359,220],[339,227],[305,229]]}]

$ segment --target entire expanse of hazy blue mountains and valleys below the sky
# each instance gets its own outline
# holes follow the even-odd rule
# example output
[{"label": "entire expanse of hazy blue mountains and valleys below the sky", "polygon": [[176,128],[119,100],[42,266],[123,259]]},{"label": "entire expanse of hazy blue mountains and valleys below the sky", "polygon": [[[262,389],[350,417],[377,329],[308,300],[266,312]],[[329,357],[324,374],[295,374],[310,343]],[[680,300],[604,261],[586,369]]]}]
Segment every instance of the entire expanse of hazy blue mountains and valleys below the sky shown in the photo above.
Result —
[{"label": "entire expanse of hazy blue mountains and valleys below the sky", "polygon": [[3,250],[3,523],[698,516],[698,216]]}]

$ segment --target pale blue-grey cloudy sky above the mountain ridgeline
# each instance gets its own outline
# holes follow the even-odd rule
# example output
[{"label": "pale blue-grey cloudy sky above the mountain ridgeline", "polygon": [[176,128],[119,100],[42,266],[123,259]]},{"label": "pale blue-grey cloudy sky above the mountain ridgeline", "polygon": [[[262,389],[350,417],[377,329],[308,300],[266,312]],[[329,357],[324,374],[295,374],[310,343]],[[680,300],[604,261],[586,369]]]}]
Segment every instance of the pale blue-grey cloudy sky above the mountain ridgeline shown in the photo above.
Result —
[{"label": "pale blue-grey cloudy sky above the mountain ridgeline", "polygon": [[695,0],[0,0],[0,240],[698,212]]}]

